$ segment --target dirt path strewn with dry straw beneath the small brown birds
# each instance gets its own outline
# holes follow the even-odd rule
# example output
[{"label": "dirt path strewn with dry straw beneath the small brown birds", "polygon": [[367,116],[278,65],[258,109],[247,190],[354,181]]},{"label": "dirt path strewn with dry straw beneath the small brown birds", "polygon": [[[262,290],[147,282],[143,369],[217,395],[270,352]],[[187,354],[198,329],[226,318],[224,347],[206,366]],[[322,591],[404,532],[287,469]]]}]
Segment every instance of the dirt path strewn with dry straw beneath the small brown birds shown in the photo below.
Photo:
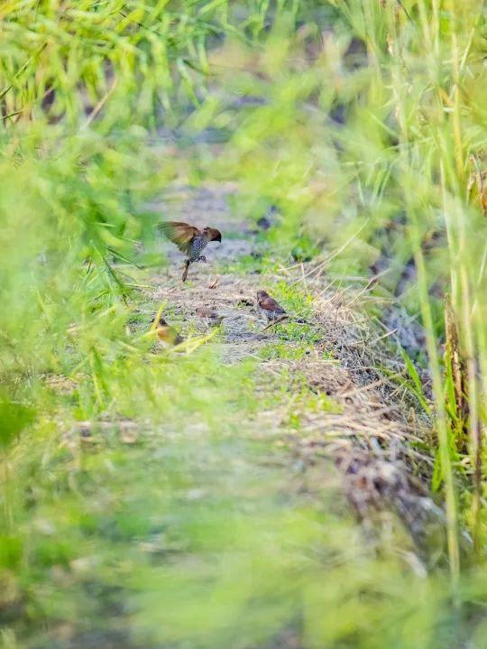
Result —
[{"label": "dirt path strewn with dry straw beneath the small brown birds", "polygon": [[[396,524],[400,521],[410,535],[405,545],[427,561],[426,538],[433,528],[440,528],[441,536],[443,515],[423,484],[434,464],[418,450],[429,435],[429,422],[407,386],[402,359],[388,344],[394,331],[382,329],[363,311],[366,289],[337,290],[323,261],[271,272],[238,269],[242,257],[259,257],[262,247],[255,228],[231,214],[227,199],[233,193],[230,184],[174,191],[164,205],[170,218],[218,227],[225,234],[220,246],[208,246],[207,264],[191,266],[184,285],[181,255],[161,242],[170,265],[152,279],[157,288],[151,300],[167,301],[167,312],[186,336],[209,330],[196,314],[198,307],[225,316],[211,343],[220,362],[257,359],[257,402],[280,392],[253,415],[255,434],[266,431],[279,440],[315,480],[321,473],[333,482],[338,468],[341,491],[367,529],[377,533],[384,520],[390,527],[391,515],[397,516]],[[228,272],[229,264],[237,270]],[[305,316],[307,324],[265,330],[255,308],[260,289],[276,295],[290,313]]]}]

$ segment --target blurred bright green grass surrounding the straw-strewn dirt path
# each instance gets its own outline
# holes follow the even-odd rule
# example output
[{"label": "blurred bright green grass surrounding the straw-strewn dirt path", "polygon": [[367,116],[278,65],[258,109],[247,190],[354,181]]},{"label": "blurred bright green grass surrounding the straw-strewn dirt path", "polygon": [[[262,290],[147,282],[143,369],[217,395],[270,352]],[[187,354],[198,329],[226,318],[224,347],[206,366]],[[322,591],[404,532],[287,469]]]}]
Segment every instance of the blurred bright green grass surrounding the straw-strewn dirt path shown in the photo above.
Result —
[{"label": "blurred bright green grass surrounding the straw-strewn dirt path", "polygon": [[[2,2],[2,646],[487,647],[485,17]],[[440,556],[371,548],[331,487],[297,487],[253,430],[255,358],[153,352],[154,197],[218,182],[235,218],[278,215],[257,272],[329,255],[371,318],[424,332],[401,344],[432,387]]]}]

